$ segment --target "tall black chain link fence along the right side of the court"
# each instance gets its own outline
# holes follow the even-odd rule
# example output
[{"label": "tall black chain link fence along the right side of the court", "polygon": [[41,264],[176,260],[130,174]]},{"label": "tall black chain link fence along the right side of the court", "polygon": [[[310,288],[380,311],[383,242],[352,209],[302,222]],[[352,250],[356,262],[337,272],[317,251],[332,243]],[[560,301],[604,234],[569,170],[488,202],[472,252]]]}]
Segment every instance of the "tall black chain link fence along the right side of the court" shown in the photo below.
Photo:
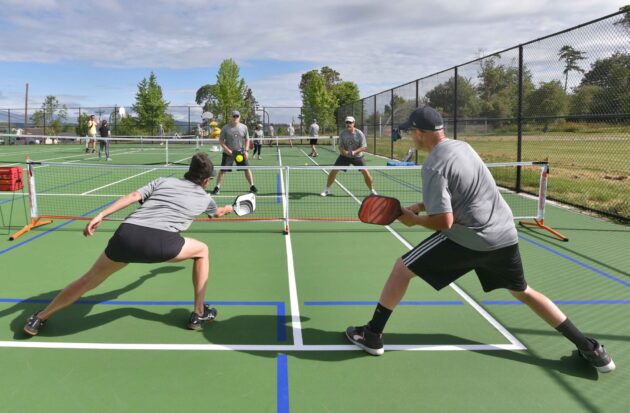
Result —
[{"label": "tall black chain link fence along the right side of the court", "polygon": [[[549,199],[630,221],[628,8],[348,104],[338,127],[354,114],[371,153],[401,159],[413,145],[392,128],[425,105],[485,162],[549,160]],[[499,183],[534,193],[538,180]]]}]

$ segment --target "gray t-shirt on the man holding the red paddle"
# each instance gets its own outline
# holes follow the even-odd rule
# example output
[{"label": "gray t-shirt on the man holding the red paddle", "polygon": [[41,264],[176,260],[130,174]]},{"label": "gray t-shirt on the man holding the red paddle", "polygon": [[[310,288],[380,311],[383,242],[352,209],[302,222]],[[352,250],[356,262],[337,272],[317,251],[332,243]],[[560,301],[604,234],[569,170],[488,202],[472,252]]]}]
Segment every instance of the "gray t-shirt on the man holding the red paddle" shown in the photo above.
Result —
[{"label": "gray t-shirt on the man holding the red paddle", "polygon": [[447,139],[422,165],[422,195],[427,214],[452,212],[450,240],[476,251],[518,243],[512,210],[490,170],[466,142]]}]

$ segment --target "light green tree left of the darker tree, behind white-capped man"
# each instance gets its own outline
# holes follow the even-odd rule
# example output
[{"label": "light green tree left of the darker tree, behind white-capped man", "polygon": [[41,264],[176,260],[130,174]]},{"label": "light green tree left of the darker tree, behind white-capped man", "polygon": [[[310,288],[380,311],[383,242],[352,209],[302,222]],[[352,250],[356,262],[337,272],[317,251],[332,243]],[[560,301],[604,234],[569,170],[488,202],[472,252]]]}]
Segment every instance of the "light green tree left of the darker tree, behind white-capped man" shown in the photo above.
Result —
[{"label": "light green tree left of the darker tree, behind white-capped man", "polygon": [[317,70],[302,74],[300,81],[302,95],[302,115],[306,122],[317,118],[322,128],[335,125],[337,102],[334,95],[326,87],[326,81]]}]

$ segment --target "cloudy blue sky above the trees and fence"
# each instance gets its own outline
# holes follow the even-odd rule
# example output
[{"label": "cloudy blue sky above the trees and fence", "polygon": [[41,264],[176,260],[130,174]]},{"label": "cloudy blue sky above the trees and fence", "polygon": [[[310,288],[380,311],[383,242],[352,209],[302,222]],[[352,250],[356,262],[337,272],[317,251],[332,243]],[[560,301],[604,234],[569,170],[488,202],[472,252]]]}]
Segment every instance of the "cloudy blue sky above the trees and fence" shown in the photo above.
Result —
[{"label": "cloudy blue sky above the trees and fence", "polygon": [[616,12],[612,0],[0,0],[0,109],[129,106],[153,71],[171,105],[234,59],[266,106],[330,66],[361,96]]}]

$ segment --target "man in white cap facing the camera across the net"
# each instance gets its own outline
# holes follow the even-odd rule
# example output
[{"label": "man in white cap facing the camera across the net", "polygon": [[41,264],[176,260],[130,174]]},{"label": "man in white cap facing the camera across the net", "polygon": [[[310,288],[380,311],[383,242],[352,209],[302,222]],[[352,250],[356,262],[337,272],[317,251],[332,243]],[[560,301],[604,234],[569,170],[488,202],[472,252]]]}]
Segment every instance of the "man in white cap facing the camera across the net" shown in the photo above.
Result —
[{"label": "man in white cap facing the camera across the net", "polygon": [[[367,149],[367,140],[365,135],[359,129],[355,127],[355,120],[352,116],[346,116],[346,127],[339,134],[339,157],[335,161],[335,166],[365,166],[363,161],[363,151]],[[321,196],[330,195],[330,187],[335,182],[337,173],[339,170],[335,169],[330,171],[328,180],[326,181],[326,188],[320,194]],[[374,184],[370,171],[367,169],[361,169],[365,185],[367,185],[370,193],[375,194]]]}]

